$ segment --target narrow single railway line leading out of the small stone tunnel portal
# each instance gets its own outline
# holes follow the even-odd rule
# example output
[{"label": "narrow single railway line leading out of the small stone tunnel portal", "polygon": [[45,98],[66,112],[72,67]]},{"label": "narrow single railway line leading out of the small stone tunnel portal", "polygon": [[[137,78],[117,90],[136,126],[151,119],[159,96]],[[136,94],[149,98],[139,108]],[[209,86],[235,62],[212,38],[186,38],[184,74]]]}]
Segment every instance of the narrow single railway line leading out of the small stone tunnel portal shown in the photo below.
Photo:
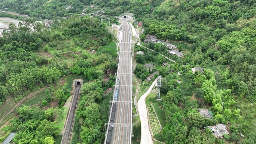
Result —
[{"label": "narrow single railway line leading out of the small stone tunnel portal", "polygon": [[61,144],[68,144],[69,140],[70,140],[70,135],[72,132],[72,127],[73,127],[73,123],[74,123],[74,116],[75,116],[75,112],[76,112],[76,107],[77,107],[77,102],[78,102],[78,98],[79,98],[79,92],[80,92],[80,88],[81,85],[77,84],[75,92],[74,92],[74,97],[71,103],[71,107],[68,113],[68,119],[66,122],[66,126],[65,126],[65,131],[61,140]]}]

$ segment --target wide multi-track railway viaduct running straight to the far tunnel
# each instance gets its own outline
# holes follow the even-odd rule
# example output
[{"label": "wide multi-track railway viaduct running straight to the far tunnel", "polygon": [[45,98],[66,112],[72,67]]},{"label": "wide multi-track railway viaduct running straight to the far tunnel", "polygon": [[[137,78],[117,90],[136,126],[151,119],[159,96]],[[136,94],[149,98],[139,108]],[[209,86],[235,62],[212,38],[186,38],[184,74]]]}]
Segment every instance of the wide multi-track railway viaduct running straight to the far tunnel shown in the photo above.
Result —
[{"label": "wide multi-track railway viaduct running straight to the far tunnel", "polygon": [[[105,144],[131,144],[132,128],[132,58],[131,40],[129,25],[124,18],[122,24],[122,40],[118,64],[117,79],[119,79],[119,91],[115,112],[113,105],[111,108],[110,119],[115,113],[113,123],[108,125]],[[109,119],[109,123],[110,123]],[[112,127],[112,128],[110,128]],[[110,129],[112,129],[110,131]]]}]

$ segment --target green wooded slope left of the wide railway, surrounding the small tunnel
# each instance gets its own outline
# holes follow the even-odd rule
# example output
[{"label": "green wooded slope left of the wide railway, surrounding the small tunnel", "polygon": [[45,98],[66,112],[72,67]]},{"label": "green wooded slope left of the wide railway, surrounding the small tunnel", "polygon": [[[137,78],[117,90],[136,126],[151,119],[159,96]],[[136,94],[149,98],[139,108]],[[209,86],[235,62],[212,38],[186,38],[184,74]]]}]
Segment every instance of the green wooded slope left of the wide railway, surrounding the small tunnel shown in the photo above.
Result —
[{"label": "green wooded slope left of the wide railway, surrounding the small tunnel", "polygon": [[[99,123],[97,126],[98,138],[89,143],[104,140],[102,123],[106,120],[107,108],[101,110],[101,106],[105,108],[105,103],[101,103],[101,105],[98,103],[101,102],[102,96],[109,101],[109,96],[104,95],[103,90],[113,85],[113,80],[109,80],[109,82],[103,80],[107,69],[116,68],[117,50],[115,47],[109,48],[109,44],[113,45],[111,41],[111,34],[107,32],[104,23],[97,18],[73,16],[70,19],[56,20],[52,22],[51,30],[44,28],[38,22],[28,20],[25,20],[24,24],[20,22],[18,27],[11,23],[9,30],[4,30],[3,37],[0,37],[1,108],[4,108],[10,99],[19,101],[31,91],[40,88],[46,89],[43,91],[43,96],[39,97],[37,104],[23,105],[13,111],[19,117],[8,120],[9,126],[4,127],[0,132],[0,141],[6,137],[5,132],[17,132],[13,141],[19,144],[52,144],[56,139],[60,143],[61,139],[58,137],[63,129],[59,124],[60,119],[63,119],[63,117],[61,118],[63,114],[61,107],[70,97],[72,89],[70,82],[64,84],[60,82],[60,79],[69,75],[69,71],[73,74],[80,74],[78,71],[81,71],[80,77],[84,77],[85,80],[99,79],[97,80],[99,87],[96,88],[97,91],[89,93],[89,96],[95,95],[95,104],[91,105],[90,103],[84,106],[98,108],[98,115],[100,115],[97,121]],[[89,50],[95,50],[98,53],[93,54]],[[85,88],[82,87],[82,91],[85,91]],[[53,100],[58,101],[58,105],[55,107],[59,108],[42,109]],[[80,118],[89,109],[82,105],[79,107],[81,107],[79,111],[82,113],[79,114]],[[1,118],[4,116],[2,112]],[[8,111],[4,111],[4,113],[8,113]],[[97,114],[96,111],[93,114]],[[89,121],[84,120],[81,124],[84,129],[95,123],[90,119]],[[79,128],[78,132],[82,132],[82,129]],[[81,136],[83,135],[88,134],[81,133]],[[84,140],[84,136],[82,140]]]}]

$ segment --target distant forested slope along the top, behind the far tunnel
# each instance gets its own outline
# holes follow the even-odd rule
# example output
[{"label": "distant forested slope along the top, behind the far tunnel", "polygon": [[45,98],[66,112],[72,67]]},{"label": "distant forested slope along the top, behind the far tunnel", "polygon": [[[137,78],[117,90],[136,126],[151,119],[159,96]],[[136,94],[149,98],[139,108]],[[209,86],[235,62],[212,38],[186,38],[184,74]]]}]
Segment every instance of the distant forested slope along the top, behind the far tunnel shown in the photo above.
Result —
[{"label": "distant forested slope along the top, behind the far tunnel", "polygon": [[[0,0],[0,10],[16,12],[21,15],[42,19],[52,19],[62,16],[79,14],[90,4],[106,7],[106,14],[118,16],[126,11],[133,12],[136,18],[149,15],[154,7],[159,6],[163,0]],[[67,9],[71,6],[71,9]],[[88,12],[90,9],[87,9]]]}]

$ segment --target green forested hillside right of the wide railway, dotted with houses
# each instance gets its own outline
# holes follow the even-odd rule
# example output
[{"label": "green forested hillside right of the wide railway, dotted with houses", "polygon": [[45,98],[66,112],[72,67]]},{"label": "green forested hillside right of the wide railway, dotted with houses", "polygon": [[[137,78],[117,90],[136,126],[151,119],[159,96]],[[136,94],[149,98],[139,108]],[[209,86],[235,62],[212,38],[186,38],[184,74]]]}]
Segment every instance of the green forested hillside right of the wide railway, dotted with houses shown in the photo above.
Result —
[{"label": "green forested hillside right of the wide railway, dotted with houses", "polygon": [[[167,83],[166,125],[156,136],[159,140],[168,144],[256,142],[255,8],[255,1],[169,0],[155,7],[150,17],[140,17],[144,34],[169,40],[186,51],[178,58],[179,67],[171,65],[182,73],[183,83]],[[193,74],[191,67],[196,66],[204,73]],[[193,94],[196,105],[186,98]],[[198,107],[211,109],[213,120],[198,115],[194,110]],[[201,129],[219,123],[228,125],[230,133],[223,140]]]}]

